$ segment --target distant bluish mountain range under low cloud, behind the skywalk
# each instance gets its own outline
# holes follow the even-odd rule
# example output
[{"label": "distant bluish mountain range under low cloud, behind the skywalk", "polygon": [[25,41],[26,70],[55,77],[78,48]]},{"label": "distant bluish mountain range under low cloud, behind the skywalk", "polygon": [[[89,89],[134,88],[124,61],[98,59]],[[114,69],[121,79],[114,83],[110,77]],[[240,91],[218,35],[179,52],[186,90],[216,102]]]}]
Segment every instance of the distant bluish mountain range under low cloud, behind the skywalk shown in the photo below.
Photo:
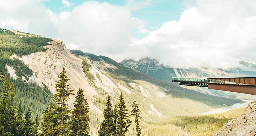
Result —
[{"label": "distant bluish mountain range under low cloud, behind the skywalk", "polygon": [[[174,67],[164,66],[159,64],[155,59],[144,58],[139,61],[123,60],[120,62],[134,70],[140,71],[151,77],[159,80],[171,82],[172,77],[191,77],[191,78],[208,78],[208,77],[255,77],[256,65],[244,61],[240,61],[241,67],[230,68],[228,70],[223,69],[206,69],[206,68],[190,68],[180,69]],[[181,86],[187,89],[196,90],[205,94],[225,96],[225,97],[237,97],[240,99],[254,100],[256,97],[247,94],[233,93],[212,90],[202,87]]]}]

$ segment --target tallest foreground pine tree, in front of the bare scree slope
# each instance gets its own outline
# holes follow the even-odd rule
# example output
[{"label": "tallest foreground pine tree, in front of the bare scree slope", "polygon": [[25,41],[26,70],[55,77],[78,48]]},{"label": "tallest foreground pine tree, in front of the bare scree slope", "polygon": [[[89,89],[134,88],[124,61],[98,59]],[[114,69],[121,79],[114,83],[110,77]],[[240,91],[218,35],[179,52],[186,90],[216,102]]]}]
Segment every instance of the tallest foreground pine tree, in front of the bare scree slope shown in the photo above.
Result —
[{"label": "tallest foreground pine tree, in front of the bare scree slope", "polygon": [[58,135],[60,136],[66,136],[68,135],[68,121],[70,120],[70,110],[65,104],[68,99],[70,99],[70,95],[74,95],[72,93],[74,90],[69,90],[70,85],[67,84],[69,81],[68,76],[66,75],[65,67],[63,67],[59,77],[59,81],[56,81],[57,84],[55,86],[56,94],[53,95],[53,101],[59,105],[59,117],[60,117],[60,125],[57,126],[57,129],[59,130]]}]

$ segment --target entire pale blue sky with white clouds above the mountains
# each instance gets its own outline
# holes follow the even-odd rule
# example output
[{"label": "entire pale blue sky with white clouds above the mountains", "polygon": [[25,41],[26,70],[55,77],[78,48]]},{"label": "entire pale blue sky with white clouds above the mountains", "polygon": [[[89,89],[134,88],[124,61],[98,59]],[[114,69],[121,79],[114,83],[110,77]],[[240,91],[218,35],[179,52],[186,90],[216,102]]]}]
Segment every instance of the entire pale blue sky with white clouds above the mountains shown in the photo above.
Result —
[{"label": "entire pale blue sky with white clouds above the mountains", "polygon": [[116,61],[179,68],[256,63],[255,0],[0,0],[0,28]]}]

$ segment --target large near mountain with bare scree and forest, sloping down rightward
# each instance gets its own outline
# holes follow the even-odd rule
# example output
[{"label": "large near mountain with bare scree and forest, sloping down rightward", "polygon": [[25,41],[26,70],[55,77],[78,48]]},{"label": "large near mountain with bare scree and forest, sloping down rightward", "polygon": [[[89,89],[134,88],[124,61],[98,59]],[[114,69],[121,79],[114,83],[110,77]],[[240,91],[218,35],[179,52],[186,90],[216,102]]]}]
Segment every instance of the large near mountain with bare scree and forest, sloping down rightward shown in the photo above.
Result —
[{"label": "large near mountain with bare scree and forest, sloping down rightward", "polygon": [[[185,89],[133,70],[105,56],[68,50],[62,41],[13,30],[0,29],[0,71],[9,76],[24,109],[42,115],[63,66],[68,84],[75,90],[68,104],[72,108],[76,92],[85,90],[89,104],[90,135],[97,135],[106,97],[117,104],[122,92],[129,111],[134,100],[140,103],[143,135],[168,135],[171,130],[153,131],[155,122],[177,115],[198,114],[216,107],[242,102]],[[128,135],[134,134],[129,128]]]}]

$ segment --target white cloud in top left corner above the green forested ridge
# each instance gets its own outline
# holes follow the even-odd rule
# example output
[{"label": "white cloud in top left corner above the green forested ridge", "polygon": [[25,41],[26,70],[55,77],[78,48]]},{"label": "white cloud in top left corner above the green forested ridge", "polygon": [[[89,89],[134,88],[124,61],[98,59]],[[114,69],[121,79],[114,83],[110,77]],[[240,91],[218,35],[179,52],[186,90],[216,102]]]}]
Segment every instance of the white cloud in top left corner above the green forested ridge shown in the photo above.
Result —
[{"label": "white cloud in top left corner above the green forested ridge", "polygon": [[0,27],[56,36],[55,14],[40,0],[0,0]]}]

